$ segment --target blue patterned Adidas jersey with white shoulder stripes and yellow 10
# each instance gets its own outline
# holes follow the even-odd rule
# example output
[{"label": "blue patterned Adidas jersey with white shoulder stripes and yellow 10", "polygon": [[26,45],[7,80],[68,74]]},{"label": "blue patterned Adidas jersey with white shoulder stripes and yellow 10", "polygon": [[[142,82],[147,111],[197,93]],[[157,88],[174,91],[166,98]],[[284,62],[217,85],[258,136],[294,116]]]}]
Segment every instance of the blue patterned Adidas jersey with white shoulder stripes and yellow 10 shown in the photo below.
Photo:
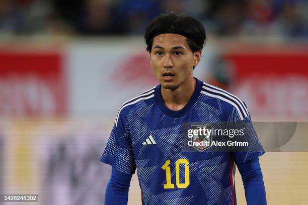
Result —
[{"label": "blue patterned Adidas jersey with white shoulder stripes and yellow 10", "polygon": [[236,204],[235,163],[265,153],[261,144],[260,152],[182,150],[182,122],[251,122],[241,99],[196,80],[182,110],[167,108],[161,85],[119,110],[101,161],[126,174],[137,169],[143,204]]}]

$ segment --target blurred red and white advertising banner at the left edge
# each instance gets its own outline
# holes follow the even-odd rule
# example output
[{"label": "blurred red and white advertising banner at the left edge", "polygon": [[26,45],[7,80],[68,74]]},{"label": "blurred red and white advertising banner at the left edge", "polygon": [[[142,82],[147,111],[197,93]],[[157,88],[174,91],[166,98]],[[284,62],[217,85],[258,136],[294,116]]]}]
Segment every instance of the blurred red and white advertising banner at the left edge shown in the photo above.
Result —
[{"label": "blurred red and white advertising banner at the left edge", "polygon": [[0,51],[0,115],[67,113],[67,83],[59,53]]}]

